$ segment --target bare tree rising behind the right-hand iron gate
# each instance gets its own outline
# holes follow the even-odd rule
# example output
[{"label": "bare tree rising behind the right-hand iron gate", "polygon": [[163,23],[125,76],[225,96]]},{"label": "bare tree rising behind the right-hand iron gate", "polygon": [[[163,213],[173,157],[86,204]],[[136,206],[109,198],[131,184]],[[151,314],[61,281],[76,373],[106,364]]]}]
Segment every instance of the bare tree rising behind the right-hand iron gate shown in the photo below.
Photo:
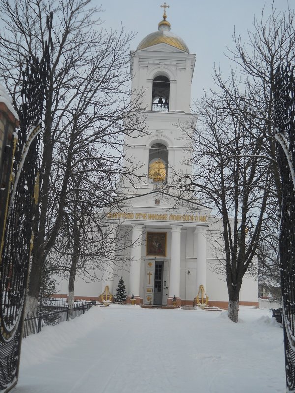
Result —
[{"label": "bare tree rising behind the right-hand iron gate", "polygon": [[[278,66],[295,59],[295,11],[288,8],[285,12],[276,10],[272,2],[272,12],[266,15],[263,8],[259,17],[254,17],[253,28],[248,30],[247,41],[234,31],[234,48],[228,48],[227,57],[232,60],[233,67],[248,91],[250,101],[245,115],[256,117],[261,121],[261,138],[264,139],[265,154],[271,158],[269,164],[275,181],[277,198],[281,203],[281,181],[275,160],[275,140],[273,126],[273,98],[275,72]],[[218,86],[226,90],[220,70],[215,69]],[[231,100],[239,96],[239,90],[231,93]],[[245,100],[244,100],[245,101]],[[236,108],[243,111],[244,107]],[[255,130],[254,130],[255,132]]]}]

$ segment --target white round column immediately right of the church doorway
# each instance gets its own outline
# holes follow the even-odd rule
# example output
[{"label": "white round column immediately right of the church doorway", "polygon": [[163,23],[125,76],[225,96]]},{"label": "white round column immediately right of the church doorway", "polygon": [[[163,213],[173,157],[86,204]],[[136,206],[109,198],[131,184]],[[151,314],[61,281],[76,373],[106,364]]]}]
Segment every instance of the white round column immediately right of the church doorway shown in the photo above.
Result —
[{"label": "white round column immediately right of the church doorway", "polygon": [[180,298],[181,227],[182,225],[171,225],[169,298]]}]

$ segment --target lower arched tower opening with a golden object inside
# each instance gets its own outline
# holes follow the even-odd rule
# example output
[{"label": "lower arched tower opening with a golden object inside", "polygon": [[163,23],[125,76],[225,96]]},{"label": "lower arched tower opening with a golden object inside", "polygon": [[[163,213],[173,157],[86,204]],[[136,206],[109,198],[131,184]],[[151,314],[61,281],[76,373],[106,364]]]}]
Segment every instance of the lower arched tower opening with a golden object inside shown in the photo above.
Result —
[{"label": "lower arched tower opening with a golden object inside", "polygon": [[162,143],[155,143],[149,150],[148,178],[153,182],[166,183],[168,150]]}]

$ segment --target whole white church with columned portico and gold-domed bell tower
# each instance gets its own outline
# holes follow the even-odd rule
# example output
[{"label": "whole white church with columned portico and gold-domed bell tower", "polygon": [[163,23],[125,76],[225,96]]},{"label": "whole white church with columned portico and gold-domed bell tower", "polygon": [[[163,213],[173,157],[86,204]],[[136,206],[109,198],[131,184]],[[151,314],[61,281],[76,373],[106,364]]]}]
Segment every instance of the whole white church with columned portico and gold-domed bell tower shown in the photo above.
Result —
[{"label": "whole white church with columned portico and gold-domed bell tower", "polygon": [[[121,246],[106,261],[114,277],[90,283],[77,278],[76,298],[98,299],[106,285],[115,295],[122,276],[127,302],[132,296],[137,304],[169,306],[175,299],[192,305],[202,285],[209,305],[227,307],[221,222],[210,216],[209,207],[194,198],[179,199],[169,189],[175,173],[192,173],[185,164],[188,141],[177,124],[195,121],[190,112],[195,55],[170,31],[166,12],[158,31],[131,52],[130,66],[132,92],[143,91],[148,126],[147,134],[125,139],[126,165],[130,158],[140,163],[134,169],[139,177],[120,185],[123,202],[106,211],[106,224]],[[116,259],[125,260],[124,266]],[[57,289],[66,295],[67,282]],[[250,276],[243,279],[240,304],[258,305],[257,281]]]}]

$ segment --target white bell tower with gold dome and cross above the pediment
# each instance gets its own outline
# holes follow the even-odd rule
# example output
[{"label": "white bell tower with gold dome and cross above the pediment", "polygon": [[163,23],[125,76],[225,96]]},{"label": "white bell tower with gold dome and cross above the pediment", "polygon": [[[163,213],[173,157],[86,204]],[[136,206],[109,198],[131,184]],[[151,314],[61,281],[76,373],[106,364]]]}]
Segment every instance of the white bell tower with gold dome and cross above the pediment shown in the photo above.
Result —
[{"label": "white bell tower with gold dome and cross above the pediment", "polygon": [[191,173],[187,137],[195,123],[190,112],[195,55],[172,33],[164,3],[158,30],[148,34],[130,53],[132,97],[140,96],[148,133],[125,140],[126,163],[134,162],[136,184],[124,184],[127,195],[144,194],[171,183],[175,173]]}]

